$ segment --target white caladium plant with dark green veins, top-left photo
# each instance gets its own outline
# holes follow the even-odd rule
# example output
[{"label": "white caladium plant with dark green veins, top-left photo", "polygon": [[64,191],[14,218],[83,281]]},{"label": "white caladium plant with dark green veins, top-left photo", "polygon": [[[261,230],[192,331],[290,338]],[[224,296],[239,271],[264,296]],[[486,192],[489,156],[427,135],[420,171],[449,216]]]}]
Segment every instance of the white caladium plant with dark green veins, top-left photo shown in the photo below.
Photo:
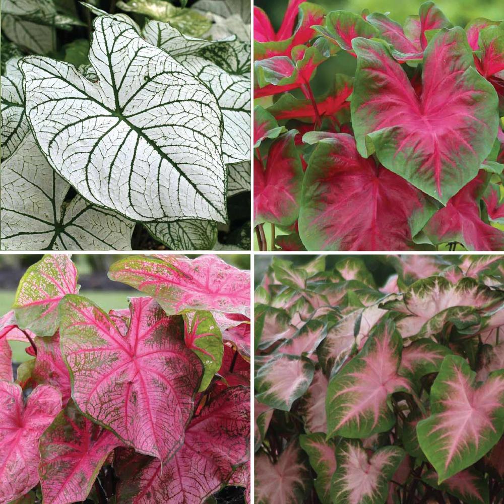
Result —
[{"label": "white caladium plant with dark green veins, top-left photo", "polygon": [[2,3],[0,248],[249,248],[250,44],[186,4]]}]

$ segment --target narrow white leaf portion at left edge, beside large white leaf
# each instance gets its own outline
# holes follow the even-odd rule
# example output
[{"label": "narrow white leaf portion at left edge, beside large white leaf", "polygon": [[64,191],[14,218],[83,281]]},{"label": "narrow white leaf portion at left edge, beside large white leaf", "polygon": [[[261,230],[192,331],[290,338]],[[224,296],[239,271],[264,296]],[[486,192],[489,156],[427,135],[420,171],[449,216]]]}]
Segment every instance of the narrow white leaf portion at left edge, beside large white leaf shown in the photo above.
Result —
[{"label": "narrow white leaf portion at left edge, beside large white leaf", "polygon": [[30,129],[25,116],[25,94],[23,92],[23,74],[18,69],[21,58],[7,61],[6,75],[0,77],[2,92],[2,159],[8,158],[21,143]]}]

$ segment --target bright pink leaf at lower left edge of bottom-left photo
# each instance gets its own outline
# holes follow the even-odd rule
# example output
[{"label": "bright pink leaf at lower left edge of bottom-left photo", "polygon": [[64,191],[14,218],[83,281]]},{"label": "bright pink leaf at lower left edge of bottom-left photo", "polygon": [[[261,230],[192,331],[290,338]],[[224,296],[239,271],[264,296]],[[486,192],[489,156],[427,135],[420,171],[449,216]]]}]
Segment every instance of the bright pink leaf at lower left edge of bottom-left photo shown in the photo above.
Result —
[{"label": "bright pink leaf at lower left edge of bottom-left photo", "polygon": [[39,385],[23,405],[19,385],[0,381],[0,501],[10,502],[39,481],[38,440],[61,411],[61,395]]}]

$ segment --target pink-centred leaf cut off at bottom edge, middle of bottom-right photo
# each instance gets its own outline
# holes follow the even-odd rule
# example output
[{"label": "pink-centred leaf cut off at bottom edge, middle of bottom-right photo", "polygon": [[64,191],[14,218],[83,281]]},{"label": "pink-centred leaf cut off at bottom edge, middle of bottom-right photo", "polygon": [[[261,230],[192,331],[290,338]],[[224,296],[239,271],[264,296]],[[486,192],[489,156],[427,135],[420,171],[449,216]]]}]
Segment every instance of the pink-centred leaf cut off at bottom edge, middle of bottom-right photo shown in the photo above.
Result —
[{"label": "pink-centred leaf cut off at bottom edge, middle of bottom-right photo", "polygon": [[345,441],[336,452],[331,497],[338,504],[385,502],[388,482],[404,458],[398,446],[386,446],[368,456],[357,441]]}]

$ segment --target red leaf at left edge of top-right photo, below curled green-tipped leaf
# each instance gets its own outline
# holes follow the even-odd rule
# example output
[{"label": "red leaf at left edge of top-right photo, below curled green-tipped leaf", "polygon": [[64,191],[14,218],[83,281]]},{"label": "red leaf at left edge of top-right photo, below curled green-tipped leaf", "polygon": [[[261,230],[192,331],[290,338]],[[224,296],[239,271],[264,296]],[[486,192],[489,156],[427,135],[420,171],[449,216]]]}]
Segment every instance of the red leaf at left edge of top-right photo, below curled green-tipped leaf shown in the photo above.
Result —
[{"label": "red leaf at left edge of top-right photo, below curled green-tipped leaf", "polygon": [[272,222],[288,226],[299,213],[303,182],[301,159],[292,130],[275,140],[270,147],[266,166],[254,159],[254,222]]}]

